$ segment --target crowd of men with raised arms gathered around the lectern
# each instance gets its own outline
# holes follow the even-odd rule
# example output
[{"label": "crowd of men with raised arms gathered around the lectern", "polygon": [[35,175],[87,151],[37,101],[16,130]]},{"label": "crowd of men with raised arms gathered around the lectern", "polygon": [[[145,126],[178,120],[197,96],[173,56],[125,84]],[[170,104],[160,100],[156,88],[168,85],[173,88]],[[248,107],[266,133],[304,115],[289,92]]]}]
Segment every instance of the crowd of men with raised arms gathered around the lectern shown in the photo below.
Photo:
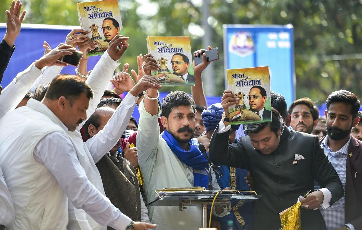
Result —
[{"label": "crowd of men with raised arms gathered around the lectern", "polygon": [[[13,1],[7,11],[0,82],[25,16],[21,6]],[[216,205],[210,215],[217,229],[232,220],[237,230],[277,230],[279,213],[298,201],[303,230],[362,229],[362,113],[354,93],[332,92],[319,117],[311,99],[288,109],[277,92],[271,92],[270,112],[265,90],[253,87],[251,110],[262,118],[271,114],[271,122],[230,125],[235,93],[226,90],[220,103],[206,107],[205,49],[194,52],[203,62],[194,66],[192,95],[175,91],[161,102],[161,84],[151,76],[160,66],[152,55],[137,57],[136,82],[128,64],[114,74],[129,46],[121,35],[92,71],[84,55],[77,75],[60,74],[67,65],[60,57],[96,48],[87,33],[72,30],[54,49],[45,42],[43,57],[0,88],[0,230],[198,229],[198,206],[179,211],[146,204],[155,189],[207,188],[209,162],[200,143],[223,172],[211,172],[215,190],[261,195],[231,210]],[[180,77],[190,76],[180,70]],[[138,122],[131,117],[135,105]]]}]

